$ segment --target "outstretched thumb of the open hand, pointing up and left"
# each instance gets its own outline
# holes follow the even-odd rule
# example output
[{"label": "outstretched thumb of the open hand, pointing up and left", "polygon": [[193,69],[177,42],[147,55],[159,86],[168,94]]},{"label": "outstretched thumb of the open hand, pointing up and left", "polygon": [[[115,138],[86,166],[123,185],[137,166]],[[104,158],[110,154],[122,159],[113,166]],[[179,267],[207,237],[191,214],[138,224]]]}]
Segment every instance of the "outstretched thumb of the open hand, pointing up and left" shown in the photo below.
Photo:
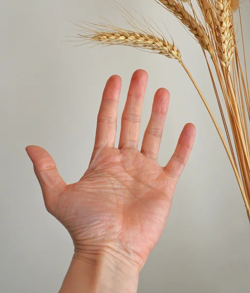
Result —
[{"label": "outstretched thumb of the open hand, pointing up and left", "polygon": [[42,188],[46,209],[50,211],[66,189],[66,183],[62,180],[54,160],[45,149],[40,146],[27,146],[26,151]]}]

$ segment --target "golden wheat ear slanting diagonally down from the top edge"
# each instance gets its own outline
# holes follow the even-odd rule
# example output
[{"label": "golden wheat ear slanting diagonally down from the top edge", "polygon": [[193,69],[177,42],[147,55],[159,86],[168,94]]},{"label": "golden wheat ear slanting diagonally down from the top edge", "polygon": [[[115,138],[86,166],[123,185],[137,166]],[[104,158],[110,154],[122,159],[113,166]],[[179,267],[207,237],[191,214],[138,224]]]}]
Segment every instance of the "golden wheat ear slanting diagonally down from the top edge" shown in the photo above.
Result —
[{"label": "golden wheat ear slanting diagonally down from the top edge", "polygon": [[175,0],[159,0],[159,2],[170,11],[179,21],[181,21],[188,30],[194,35],[200,45],[208,50],[210,55],[213,55],[214,49],[210,42],[210,38],[203,27],[199,24],[185,9],[180,1]]}]

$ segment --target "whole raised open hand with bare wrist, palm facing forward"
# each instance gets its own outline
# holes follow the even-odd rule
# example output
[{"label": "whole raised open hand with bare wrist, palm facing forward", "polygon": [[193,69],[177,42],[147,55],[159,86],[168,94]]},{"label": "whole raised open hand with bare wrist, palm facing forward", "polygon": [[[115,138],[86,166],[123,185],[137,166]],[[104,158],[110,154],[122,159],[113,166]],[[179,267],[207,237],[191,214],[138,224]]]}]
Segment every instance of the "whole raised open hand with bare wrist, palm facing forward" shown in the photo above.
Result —
[{"label": "whole raised open hand with bare wrist, palm facing forward", "polygon": [[139,129],[147,73],[134,72],[115,148],[121,78],[106,83],[90,164],[66,185],[42,147],[27,146],[46,209],[70,233],[75,252],[60,293],[135,293],[139,272],[166,225],[173,193],[193,146],[187,124],[166,166],[157,162],[169,93],[157,90],[141,151]]}]

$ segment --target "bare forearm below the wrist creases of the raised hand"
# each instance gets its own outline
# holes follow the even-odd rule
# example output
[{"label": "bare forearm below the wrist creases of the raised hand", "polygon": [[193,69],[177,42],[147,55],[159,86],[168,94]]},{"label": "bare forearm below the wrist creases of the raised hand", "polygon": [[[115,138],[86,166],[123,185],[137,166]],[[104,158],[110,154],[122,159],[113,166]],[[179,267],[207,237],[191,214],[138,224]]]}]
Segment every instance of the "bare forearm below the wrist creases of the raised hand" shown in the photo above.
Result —
[{"label": "bare forearm below the wrist creases of the raised hand", "polygon": [[136,293],[139,270],[109,253],[75,253],[59,293]]}]

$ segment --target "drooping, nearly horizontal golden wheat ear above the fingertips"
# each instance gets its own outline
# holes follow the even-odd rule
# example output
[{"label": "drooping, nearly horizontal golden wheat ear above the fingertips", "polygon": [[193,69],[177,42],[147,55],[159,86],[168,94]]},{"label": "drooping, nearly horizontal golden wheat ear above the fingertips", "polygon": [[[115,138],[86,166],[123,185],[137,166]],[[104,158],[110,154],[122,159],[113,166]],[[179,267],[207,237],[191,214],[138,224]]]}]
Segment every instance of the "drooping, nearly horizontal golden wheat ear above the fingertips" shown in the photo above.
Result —
[{"label": "drooping, nearly horizontal golden wheat ear above the fingertips", "polygon": [[96,32],[90,36],[80,35],[80,38],[90,39],[92,42],[127,45],[136,48],[152,50],[167,58],[176,59],[182,62],[181,53],[174,43],[168,42],[165,38],[161,39],[157,36],[147,35],[142,32],[132,31],[112,31],[112,32]]}]

